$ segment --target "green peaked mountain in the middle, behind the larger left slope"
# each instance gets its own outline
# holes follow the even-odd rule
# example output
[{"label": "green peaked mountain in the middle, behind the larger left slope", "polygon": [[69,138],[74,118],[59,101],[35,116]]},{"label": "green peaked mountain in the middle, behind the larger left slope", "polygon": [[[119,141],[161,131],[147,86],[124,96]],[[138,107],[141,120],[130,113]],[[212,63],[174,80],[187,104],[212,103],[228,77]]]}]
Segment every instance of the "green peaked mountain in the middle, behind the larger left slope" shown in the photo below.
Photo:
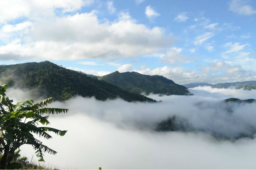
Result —
[{"label": "green peaked mountain in the middle, behind the larger left slope", "polygon": [[160,75],[144,75],[137,72],[119,73],[115,71],[98,78],[126,91],[133,93],[166,94],[166,95],[192,95],[188,89],[182,85],[174,83]]}]

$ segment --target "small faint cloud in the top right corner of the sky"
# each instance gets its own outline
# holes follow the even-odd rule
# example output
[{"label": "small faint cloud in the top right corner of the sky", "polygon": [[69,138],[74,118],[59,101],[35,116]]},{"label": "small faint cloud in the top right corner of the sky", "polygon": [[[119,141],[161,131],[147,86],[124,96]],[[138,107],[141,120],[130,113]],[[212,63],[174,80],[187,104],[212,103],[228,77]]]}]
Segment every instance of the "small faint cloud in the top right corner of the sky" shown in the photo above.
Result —
[{"label": "small faint cloud in the top right corner of the sky", "polygon": [[256,13],[256,10],[250,5],[246,5],[247,1],[232,0],[229,4],[229,10],[238,13],[240,15],[252,15]]}]

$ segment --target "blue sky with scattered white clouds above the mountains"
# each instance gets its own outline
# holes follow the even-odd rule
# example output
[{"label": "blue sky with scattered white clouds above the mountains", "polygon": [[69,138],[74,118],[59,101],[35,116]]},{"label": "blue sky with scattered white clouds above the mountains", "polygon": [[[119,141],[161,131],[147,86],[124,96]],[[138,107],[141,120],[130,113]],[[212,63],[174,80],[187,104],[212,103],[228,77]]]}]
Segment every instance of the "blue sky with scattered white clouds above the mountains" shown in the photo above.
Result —
[{"label": "blue sky with scattered white clouds above the mountains", "polygon": [[256,2],[0,0],[0,64],[49,60],[179,84],[256,80]]}]

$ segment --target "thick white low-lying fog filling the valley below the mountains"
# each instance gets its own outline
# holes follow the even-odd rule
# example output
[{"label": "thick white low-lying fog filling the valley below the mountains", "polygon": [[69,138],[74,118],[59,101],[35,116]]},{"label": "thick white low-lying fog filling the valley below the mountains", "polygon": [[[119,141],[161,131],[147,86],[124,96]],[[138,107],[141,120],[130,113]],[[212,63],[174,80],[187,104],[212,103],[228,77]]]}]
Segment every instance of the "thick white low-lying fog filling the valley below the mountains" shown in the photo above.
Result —
[{"label": "thick white low-lying fog filling the valley below the mountains", "polygon": [[[256,90],[204,86],[190,91],[195,95],[149,95],[162,100],[158,103],[102,102],[79,96],[53,102],[50,107],[69,112],[50,116],[50,126],[68,132],[41,140],[58,151],[45,154],[46,165],[58,169],[255,169],[256,103],[222,100],[255,99]],[[15,102],[30,99],[19,89],[10,88],[7,95]],[[191,131],[154,131],[159,122],[174,115],[186,120]],[[241,134],[251,138],[240,138]],[[31,146],[20,149],[31,159]]]}]

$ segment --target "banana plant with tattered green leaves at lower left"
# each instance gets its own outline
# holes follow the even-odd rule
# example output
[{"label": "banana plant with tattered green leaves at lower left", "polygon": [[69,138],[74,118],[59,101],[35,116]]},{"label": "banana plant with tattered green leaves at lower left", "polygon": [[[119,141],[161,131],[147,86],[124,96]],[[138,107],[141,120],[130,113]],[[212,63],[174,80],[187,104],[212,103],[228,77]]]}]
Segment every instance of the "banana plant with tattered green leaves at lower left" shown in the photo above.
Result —
[{"label": "banana plant with tattered green leaves at lower left", "polygon": [[39,125],[49,125],[50,114],[67,113],[68,109],[46,107],[51,104],[51,97],[37,103],[34,103],[34,100],[24,100],[12,104],[13,100],[5,94],[7,88],[7,84],[0,86],[0,169],[20,168],[21,165],[12,160],[15,150],[23,144],[34,148],[38,161],[44,161],[43,153],[56,154],[56,151],[43,145],[34,135],[51,139],[52,136],[48,132],[54,132],[64,136],[67,131]]}]

